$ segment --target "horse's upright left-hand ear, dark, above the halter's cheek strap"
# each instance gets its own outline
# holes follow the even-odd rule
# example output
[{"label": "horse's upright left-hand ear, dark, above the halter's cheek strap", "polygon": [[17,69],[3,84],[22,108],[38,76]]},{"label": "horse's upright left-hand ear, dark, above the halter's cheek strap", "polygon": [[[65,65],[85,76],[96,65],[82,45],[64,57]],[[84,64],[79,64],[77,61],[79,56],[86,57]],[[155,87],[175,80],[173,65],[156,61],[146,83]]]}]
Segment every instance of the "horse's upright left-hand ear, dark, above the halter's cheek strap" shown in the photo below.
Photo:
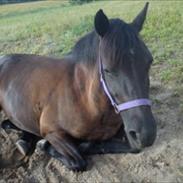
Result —
[{"label": "horse's upright left-hand ear, dark, above the halter's cheek strap", "polygon": [[109,20],[104,12],[100,9],[95,15],[95,30],[103,37],[109,29]]}]

